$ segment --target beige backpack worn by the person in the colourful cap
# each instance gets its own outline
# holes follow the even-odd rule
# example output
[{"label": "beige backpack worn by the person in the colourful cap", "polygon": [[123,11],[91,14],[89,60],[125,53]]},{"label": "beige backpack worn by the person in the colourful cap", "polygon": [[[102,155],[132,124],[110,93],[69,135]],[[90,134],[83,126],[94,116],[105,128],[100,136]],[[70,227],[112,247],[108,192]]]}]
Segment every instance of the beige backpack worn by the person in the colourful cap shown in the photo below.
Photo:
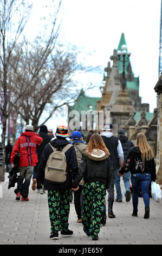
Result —
[{"label": "beige backpack worn by the person in the colourful cap", "polygon": [[45,179],[53,183],[62,183],[66,181],[67,175],[67,161],[64,153],[73,145],[67,144],[62,151],[57,151],[57,148],[54,148],[50,143],[49,145],[53,149],[53,153],[50,154],[46,164]]}]

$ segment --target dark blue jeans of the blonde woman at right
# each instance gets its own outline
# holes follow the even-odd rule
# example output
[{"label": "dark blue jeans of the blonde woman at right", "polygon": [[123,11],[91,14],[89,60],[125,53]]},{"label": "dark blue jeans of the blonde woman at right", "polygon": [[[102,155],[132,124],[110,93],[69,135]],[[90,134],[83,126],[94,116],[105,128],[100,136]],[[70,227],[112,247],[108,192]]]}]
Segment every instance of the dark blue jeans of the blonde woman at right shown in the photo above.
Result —
[{"label": "dark blue jeans of the blonde woman at right", "polygon": [[148,194],[148,189],[151,183],[151,175],[147,173],[135,173],[131,175],[131,181],[133,188],[133,210],[138,210],[138,197],[140,188],[142,197],[144,199],[145,207],[150,206],[150,197]]}]

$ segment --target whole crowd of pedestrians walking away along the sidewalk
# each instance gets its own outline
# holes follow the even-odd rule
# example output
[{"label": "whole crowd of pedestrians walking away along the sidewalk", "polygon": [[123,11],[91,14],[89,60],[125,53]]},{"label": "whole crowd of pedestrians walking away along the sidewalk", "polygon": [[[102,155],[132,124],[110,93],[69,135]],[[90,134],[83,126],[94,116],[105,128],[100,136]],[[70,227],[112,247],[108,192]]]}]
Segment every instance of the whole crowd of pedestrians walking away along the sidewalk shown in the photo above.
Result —
[{"label": "whole crowd of pedestrians walking away along the sidewalk", "polygon": [[[0,168],[1,151],[0,143]],[[126,137],[124,129],[119,129],[118,136],[114,136],[113,124],[105,124],[100,132],[90,129],[85,140],[80,131],[74,131],[69,137],[66,126],[57,126],[54,134],[46,125],[40,127],[39,133],[34,132],[33,125],[27,125],[10,151],[8,164],[12,167],[15,154],[20,153],[16,200],[29,201],[32,176],[31,188],[41,194],[47,193],[50,239],[59,239],[59,231],[62,237],[73,235],[68,223],[73,192],[76,221],[82,223],[87,236],[98,240],[101,224],[106,224],[106,217],[115,218],[114,200],[117,203],[123,200],[121,177],[126,202],[131,200],[132,184],[132,216],[138,216],[140,189],[145,205],[144,218],[150,216],[148,188],[151,181],[155,181],[156,172],[153,153],[144,133],[137,135],[134,145]]]}]

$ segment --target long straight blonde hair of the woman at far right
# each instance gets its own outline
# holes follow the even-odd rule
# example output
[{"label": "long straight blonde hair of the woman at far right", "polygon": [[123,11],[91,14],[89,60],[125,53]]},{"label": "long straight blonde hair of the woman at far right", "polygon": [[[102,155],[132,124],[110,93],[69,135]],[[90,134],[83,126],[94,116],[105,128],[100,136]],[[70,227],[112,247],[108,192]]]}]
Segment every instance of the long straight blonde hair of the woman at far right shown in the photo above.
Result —
[{"label": "long straight blonde hair of the woman at far right", "polygon": [[150,148],[150,145],[148,144],[144,133],[138,133],[136,145],[139,147],[139,150],[141,151],[142,160],[151,160],[153,158],[152,149]]}]

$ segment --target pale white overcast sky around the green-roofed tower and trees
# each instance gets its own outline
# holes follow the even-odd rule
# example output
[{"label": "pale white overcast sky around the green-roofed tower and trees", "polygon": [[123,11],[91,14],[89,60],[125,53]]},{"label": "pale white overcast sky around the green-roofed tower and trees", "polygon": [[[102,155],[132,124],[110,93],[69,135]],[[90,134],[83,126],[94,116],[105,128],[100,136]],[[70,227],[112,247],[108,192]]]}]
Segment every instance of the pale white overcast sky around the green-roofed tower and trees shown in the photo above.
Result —
[{"label": "pale white overcast sky around the green-roofed tower and trees", "polygon": [[[38,17],[49,11],[51,0],[31,2],[34,9],[27,28],[32,36],[41,29]],[[42,8],[44,4],[46,9]],[[121,34],[125,34],[132,70],[139,76],[139,95],[142,103],[150,103],[150,112],[157,107],[153,88],[159,78],[160,8],[160,0],[64,0],[60,13],[62,42],[82,48],[80,60],[86,65],[101,66],[103,72],[113,50],[118,48]],[[80,75],[78,80],[85,88],[90,83],[100,86],[103,73]],[[89,90],[87,95],[99,97],[101,92]],[[64,118],[57,113],[46,125],[55,130],[61,122]]]}]

